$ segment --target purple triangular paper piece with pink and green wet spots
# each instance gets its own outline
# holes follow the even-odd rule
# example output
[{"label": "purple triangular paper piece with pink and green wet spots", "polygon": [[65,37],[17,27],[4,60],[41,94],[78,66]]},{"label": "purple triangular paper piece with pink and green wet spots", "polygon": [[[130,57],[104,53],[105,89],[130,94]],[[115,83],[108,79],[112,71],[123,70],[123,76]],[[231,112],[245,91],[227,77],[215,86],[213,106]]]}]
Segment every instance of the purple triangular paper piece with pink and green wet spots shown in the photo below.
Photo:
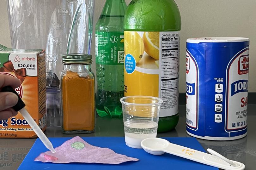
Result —
[{"label": "purple triangular paper piece with pink and green wet spots", "polygon": [[41,153],[34,161],[53,162],[53,163],[105,163],[119,164],[127,161],[138,161],[125,155],[117,154],[108,148],[100,148],[85,142],[76,136],[61,146],[55,148],[56,152],[51,151]]}]

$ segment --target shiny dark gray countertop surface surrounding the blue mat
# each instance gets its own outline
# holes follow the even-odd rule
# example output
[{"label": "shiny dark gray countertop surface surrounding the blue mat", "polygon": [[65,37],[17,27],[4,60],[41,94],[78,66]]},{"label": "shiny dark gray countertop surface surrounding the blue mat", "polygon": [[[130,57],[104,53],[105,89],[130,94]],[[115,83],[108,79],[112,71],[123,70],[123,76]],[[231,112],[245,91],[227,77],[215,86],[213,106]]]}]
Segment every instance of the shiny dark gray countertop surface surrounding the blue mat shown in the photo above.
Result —
[{"label": "shiny dark gray countertop surface surrounding the blue mat", "polygon": [[[158,137],[191,137],[186,134],[185,105],[179,106],[180,121],[175,130],[159,133]],[[204,149],[211,148],[228,159],[245,164],[246,170],[256,169],[256,105],[248,105],[248,134],[233,141],[210,141],[198,139]],[[61,133],[60,127],[46,129],[48,137],[74,137],[76,134]],[[96,118],[95,133],[79,134],[79,136],[124,136],[123,120],[107,117]],[[34,144],[36,139],[0,139],[0,170],[15,170]]]}]

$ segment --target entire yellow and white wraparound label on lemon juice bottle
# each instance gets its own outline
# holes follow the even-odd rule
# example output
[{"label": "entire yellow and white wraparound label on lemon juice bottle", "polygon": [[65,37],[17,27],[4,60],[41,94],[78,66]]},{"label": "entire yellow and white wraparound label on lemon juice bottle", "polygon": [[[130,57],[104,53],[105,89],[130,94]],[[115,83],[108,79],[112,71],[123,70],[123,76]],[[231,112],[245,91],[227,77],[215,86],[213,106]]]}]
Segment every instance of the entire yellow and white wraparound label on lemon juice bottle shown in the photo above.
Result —
[{"label": "entire yellow and white wraparound label on lemon juice bottle", "polygon": [[160,117],[178,114],[180,31],[125,31],[125,96],[163,99]]}]

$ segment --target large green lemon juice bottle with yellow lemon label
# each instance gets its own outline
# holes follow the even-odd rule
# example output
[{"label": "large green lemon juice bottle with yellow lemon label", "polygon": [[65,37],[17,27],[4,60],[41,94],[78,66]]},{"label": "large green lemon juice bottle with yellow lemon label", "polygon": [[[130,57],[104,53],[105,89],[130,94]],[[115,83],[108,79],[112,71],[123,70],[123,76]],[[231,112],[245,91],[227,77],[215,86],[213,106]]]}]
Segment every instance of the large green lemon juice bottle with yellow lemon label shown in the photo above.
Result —
[{"label": "large green lemon juice bottle with yellow lemon label", "polygon": [[163,99],[158,132],[179,121],[180,30],[173,0],[132,0],[125,12],[125,96]]}]

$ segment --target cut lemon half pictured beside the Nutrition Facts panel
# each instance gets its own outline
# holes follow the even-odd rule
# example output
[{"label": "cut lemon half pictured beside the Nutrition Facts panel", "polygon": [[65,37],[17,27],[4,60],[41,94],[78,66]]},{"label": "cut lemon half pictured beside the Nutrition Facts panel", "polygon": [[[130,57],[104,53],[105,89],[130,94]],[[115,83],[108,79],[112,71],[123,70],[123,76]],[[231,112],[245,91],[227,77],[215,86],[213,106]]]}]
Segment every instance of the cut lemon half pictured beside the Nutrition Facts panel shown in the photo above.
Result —
[{"label": "cut lemon half pictured beside the Nutrition Facts panel", "polygon": [[159,60],[159,32],[144,32],[143,42],[145,52],[154,59]]}]

